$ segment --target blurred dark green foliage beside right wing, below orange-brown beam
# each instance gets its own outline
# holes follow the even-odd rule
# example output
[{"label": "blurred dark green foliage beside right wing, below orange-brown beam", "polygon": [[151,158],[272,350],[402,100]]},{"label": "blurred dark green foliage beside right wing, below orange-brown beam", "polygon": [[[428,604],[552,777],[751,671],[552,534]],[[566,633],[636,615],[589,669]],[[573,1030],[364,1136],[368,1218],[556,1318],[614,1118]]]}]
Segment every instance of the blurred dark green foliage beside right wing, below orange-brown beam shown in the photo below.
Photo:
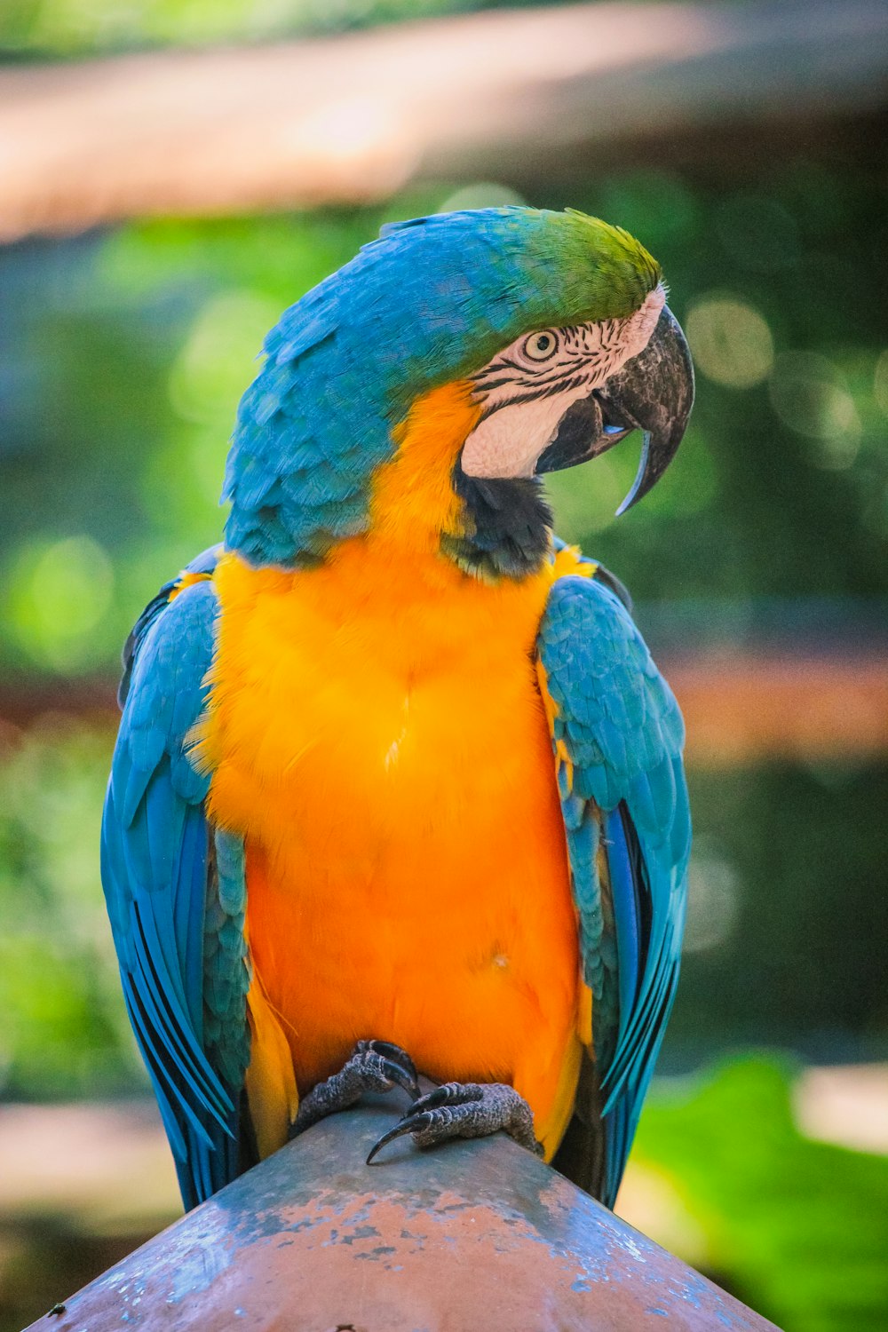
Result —
[{"label": "blurred dark green foliage beside right wing, below orange-brown beam", "polygon": [[747,1042],[825,1063],[885,1058],[888,767],[688,778],[695,844],[667,1059]]}]

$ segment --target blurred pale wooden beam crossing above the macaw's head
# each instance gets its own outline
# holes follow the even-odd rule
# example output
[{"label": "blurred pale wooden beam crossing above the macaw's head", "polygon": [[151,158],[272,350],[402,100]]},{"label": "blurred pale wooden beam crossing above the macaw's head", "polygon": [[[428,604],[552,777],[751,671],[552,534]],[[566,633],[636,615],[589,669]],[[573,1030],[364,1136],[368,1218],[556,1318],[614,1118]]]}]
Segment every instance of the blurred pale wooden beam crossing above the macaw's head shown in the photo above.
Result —
[{"label": "blurred pale wooden beam crossing above the macaw's head", "polygon": [[[865,113],[881,0],[494,11],[0,71],[0,240],[525,178],[647,139]],[[530,170],[533,176],[533,168]]]}]

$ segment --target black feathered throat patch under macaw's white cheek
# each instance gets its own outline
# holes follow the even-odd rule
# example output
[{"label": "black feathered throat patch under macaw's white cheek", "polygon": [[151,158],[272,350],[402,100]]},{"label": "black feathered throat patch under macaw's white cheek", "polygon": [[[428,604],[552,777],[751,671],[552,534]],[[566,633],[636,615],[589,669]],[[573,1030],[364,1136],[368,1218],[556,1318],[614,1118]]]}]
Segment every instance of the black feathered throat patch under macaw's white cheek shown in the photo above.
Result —
[{"label": "black feathered throat patch under macaw's white cheek", "polygon": [[477,578],[526,578],[549,558],[553,511],[537,477],[467,477],[453,472],[466,531],[441,535],[441,549]]}]

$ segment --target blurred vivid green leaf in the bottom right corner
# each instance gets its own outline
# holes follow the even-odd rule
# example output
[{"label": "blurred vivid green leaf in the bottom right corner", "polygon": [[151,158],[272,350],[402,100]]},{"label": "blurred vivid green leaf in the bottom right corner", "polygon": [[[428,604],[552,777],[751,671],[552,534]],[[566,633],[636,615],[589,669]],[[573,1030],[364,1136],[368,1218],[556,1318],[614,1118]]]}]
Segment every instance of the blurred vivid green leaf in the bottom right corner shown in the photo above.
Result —
[{"label": "blurred vivid green leaf in the bottom right corner", "polygon": [[747,1058],[655,1084],[636,1159],[698,1223],[696,1264],[785,1332],[881,1332],[888,1159],[803,1138],[792,1072]]}]

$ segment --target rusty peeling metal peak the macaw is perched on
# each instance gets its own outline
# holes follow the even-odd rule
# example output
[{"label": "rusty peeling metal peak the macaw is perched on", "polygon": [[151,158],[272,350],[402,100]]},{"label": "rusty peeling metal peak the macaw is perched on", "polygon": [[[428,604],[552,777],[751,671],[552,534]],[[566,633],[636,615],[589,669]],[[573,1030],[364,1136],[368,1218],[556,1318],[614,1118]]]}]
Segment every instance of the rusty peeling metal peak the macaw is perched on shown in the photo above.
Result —
[{"label": "rusty peeling metal peak the macaw is perched on", "polygon": [[365,1166],[394,1112],[317,1124],[32,1328],[774,1328],[502,1134]]}]

